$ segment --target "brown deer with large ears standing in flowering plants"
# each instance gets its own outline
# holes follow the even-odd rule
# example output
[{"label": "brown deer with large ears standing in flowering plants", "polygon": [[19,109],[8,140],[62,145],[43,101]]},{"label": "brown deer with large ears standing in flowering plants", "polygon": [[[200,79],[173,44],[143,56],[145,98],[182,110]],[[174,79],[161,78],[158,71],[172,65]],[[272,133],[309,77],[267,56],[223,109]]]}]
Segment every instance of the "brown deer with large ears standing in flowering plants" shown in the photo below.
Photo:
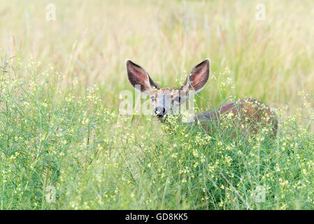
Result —
[{"label": "brown deer with large ears standing in flowering plants", "polygon": [[[168,115],[173,114],[175,108],[185,104],[192,94],[201,91],[210,75],[210,59],[206,58],[187,73],[187,78],[180,87],[159,87],[141,66],[130,59],[126,59],[125,62],[129,82],[137,91],[150,96],[152,115],[161,122],[164,122]],[[208,124],[217,124],[224,119],[227,123],[232,123],[234,128],[240,128],[245,134],[257,133],[263,128],[268,128],[269,133],[275,136],[278,129],[275,110],[257,99],[244,98],[224,104],[212,111],[195,113],[190,123],[201,125],[209,132]],[[231,122],[234,118],[236,122]]]}]

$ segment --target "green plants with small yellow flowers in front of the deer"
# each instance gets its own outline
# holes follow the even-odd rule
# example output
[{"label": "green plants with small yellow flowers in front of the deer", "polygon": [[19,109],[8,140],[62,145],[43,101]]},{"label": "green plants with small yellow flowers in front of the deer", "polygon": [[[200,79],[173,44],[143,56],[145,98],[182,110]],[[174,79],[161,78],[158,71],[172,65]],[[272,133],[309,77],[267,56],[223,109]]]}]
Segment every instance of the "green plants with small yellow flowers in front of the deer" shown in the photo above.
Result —
[{"label": "green plants with small yellow flowers in front of the deer", "polygon": [[1,209],[313,209],[314,135],[300,113],[275,139],[131,123],[97,87],[74,97],[35,64],[15,69],[27,81],[1,73]]}]

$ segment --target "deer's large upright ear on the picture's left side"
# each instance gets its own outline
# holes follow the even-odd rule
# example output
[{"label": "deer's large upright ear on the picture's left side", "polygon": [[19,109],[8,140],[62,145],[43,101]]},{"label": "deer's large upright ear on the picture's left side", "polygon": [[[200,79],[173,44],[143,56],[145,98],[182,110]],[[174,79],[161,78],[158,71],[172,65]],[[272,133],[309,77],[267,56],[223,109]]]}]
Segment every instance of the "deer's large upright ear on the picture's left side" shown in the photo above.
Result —
[{"label": "deer's large upright ear on the picture's left side", "polygon": [[150,78],[147,71],[130,59],[125,61],[127,64],[127,77],[133,87],[143,93],[149,94],[155,87],[159,90],[159,86]]}]

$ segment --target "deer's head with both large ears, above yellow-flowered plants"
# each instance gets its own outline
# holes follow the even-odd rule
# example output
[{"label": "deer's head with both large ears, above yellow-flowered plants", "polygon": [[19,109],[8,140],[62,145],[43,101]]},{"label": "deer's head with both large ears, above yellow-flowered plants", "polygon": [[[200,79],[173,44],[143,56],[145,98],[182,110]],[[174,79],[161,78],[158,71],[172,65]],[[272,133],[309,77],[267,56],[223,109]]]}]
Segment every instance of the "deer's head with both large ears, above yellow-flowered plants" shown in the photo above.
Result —
[{"label": "deer's head with both large ears, above yellow-flowered plants", "polygon": [[205,59],[187,74],[185,83],[180,87],[159,87],[141,66],[129,59],[126,63],[129,82],[136,90],[150,95],[152,114],[159,120],[165,120],[167,114],[180,113],[188,97],[206,85],[210,70],[210,59]]}]

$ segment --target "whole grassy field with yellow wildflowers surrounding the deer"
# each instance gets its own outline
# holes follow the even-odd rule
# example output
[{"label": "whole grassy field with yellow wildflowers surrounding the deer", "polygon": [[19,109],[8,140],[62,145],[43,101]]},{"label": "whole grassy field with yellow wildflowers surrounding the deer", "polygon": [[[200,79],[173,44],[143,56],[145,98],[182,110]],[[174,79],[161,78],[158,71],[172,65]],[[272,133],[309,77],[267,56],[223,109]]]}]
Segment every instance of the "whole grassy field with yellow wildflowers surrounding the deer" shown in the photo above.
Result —
[{"label": "whole grassy field with yellow wildflowers surrounding the deer", "polygon": [[[313,18],[310,0],[2,2],[0,209],[313,209]],[[206,57],[196,111],[259,99],[276,138],[119,113],[125,59],[178,87]]]}]

